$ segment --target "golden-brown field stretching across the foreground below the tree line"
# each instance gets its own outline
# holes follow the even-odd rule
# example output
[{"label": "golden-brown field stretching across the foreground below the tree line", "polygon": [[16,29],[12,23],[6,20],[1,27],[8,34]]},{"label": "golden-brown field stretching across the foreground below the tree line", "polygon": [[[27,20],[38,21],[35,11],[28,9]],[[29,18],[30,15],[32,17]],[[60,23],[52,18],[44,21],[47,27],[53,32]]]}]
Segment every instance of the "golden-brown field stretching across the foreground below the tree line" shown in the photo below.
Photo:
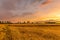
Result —
[{"label": "golden-brown field stretching across the foreground below the tree line", "polygon": [[60,40],[60,25],[0,24],[0,40]]}]

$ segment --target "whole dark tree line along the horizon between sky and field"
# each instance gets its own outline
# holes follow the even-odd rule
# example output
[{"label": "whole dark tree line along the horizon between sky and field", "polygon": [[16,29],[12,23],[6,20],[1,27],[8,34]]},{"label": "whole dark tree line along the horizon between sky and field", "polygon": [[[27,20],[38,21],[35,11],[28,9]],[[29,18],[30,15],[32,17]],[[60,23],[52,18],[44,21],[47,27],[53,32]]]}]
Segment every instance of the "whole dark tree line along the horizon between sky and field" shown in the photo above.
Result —
[{"label": "whole dark tree line along the horizon between sky and field", "polygon": [[[56,24],[56,22],[44,22],[45,24]],[[0,21],[0,24],[42,24],[41,22],[30,22],[30,21],[23,21],[23,22],[16,22],[13,23],[11,21]]]}]

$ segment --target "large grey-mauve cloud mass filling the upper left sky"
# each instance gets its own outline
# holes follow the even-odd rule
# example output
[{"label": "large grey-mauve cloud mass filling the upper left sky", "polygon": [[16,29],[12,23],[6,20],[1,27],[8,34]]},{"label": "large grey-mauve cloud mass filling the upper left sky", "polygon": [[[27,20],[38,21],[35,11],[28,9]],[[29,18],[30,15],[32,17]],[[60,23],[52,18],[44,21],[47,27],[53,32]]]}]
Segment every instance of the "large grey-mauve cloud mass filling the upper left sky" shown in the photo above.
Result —
[{"label": "large grey-mauve cloud mass filling the upper left sky", "polygon": [[[2,10],[0,11],[0,19],[8,19],[8,18],[13,18],[18,16],[23,17],[28,15],[33,15],[33,12],[37,10],[36,9],[37,5],[39,4],[43,5],[47,2],[48,0],[0,0],[0,4],[1,4],[0,10]],[[19,13],[15,10],[19,10]],[[16,12],[16,15],[11,11]]]}]

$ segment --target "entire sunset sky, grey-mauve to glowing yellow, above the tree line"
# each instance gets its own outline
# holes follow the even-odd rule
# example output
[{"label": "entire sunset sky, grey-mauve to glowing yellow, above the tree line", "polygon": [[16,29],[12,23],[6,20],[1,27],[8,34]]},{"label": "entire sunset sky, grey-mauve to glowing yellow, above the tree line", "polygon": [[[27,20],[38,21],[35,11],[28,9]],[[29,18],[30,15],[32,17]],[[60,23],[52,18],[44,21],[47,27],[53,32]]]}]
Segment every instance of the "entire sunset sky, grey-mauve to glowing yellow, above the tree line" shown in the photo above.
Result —
[{"label": "entire sunset sky, grey-mauve to glowing yellow, above the tree line", "polygon": [[60,0],[0,0],[0,20],[60,20]]}]

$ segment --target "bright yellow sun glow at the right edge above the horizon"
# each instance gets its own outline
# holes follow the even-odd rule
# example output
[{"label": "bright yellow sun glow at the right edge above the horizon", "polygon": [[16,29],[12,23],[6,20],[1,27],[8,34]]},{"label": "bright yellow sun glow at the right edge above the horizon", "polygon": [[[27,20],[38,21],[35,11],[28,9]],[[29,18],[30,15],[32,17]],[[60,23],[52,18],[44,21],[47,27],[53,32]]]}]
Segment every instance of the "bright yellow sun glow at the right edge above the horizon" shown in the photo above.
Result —
[{"label": "bright yellow sun glow at the right edge above the horizon", "polygon": [[52,12],[43,17],[44,20],[57,20],[60,21],[60,11]]}]

